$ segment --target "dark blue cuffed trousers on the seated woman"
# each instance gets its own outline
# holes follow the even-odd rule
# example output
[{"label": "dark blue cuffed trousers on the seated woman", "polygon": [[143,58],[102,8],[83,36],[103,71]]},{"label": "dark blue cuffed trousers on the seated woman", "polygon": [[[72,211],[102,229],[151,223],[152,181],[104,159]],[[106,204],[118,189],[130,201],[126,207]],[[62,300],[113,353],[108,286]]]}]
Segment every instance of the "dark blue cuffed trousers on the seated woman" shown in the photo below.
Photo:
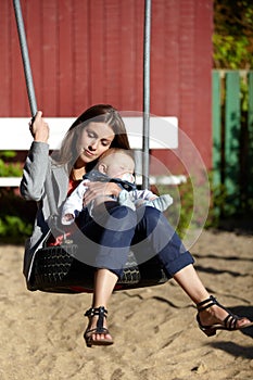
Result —
[{"label": "dark blue cuffed trousers on the seated woman", "polygon": [[119,278],[129,250],[135,252],[139,264],[156,255],[168,277],[193,264],[175,230],[154,207],[132,211],[116,202],[105,202],[93,218],[87,219],[86,215],[81,232],[84,251],[89,252],[88,264],[110,269]]}]

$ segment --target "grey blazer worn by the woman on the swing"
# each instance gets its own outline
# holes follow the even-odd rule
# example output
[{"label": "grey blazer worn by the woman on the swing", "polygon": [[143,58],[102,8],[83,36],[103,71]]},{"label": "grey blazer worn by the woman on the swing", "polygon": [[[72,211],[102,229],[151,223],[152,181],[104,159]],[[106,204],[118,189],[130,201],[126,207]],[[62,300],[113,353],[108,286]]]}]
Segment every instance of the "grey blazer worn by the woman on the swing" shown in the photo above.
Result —
[{"label": "grey blazer worn by the woman on the swing", "polygon": [[[52,181],[52,193],[46,192],[46,178]],[[35,253],[42,246],[42,242],[49,231],[49,217],[51,210],[49,197],[54,197],[56,207],[60,208],[67,197],[68,174],[66,166],[55,165],[49,155],[49,144],[46,142],[31,143],[26,157],[23,178],[21,181],[21,194],[27,201],[36,201],[38,211],[35,219],[33,235],[25,243],[24,275],[27,287],[30,288],[31,266]],[[52,192],[51,191],[51,192]]]}]

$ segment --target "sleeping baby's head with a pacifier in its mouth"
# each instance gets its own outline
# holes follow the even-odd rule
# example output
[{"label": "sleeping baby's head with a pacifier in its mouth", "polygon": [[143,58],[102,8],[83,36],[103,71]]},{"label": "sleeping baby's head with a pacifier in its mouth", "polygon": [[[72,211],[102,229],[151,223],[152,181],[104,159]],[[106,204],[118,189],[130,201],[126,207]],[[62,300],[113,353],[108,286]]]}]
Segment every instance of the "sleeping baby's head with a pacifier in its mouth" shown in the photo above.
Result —
[{"label": "sleeping baby's head with a pacifier in its mouth", "polygon": [[111,178],[134,181],[135,160],[130,150],[111,148],[99,159],[96,168]]}]

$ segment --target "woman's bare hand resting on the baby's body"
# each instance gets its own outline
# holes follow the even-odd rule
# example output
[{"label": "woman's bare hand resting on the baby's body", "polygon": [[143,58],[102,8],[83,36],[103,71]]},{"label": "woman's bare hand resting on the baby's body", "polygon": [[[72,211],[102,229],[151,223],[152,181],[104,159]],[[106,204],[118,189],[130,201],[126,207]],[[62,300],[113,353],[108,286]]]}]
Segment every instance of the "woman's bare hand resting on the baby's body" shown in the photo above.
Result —
[{"label": "woman's bare hand resting on the baby's body", "polygon": [[122,188],[114,182],[87,182],[87,191],[84,195],[84,206],[98,197],[115,195],[118,197]]}]

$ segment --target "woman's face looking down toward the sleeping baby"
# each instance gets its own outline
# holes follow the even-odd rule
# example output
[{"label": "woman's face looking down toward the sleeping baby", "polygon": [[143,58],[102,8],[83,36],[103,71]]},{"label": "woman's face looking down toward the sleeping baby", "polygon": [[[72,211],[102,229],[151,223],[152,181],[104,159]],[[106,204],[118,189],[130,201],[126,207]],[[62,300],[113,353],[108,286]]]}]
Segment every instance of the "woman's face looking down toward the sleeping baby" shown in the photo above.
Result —
[{"label": "woman's face looking down toward the sleeping baby", "polygon": [[114,137],[115,134],[107,124],[89,123],[77,141],[78,166],[97,160],[110,148]]}]

